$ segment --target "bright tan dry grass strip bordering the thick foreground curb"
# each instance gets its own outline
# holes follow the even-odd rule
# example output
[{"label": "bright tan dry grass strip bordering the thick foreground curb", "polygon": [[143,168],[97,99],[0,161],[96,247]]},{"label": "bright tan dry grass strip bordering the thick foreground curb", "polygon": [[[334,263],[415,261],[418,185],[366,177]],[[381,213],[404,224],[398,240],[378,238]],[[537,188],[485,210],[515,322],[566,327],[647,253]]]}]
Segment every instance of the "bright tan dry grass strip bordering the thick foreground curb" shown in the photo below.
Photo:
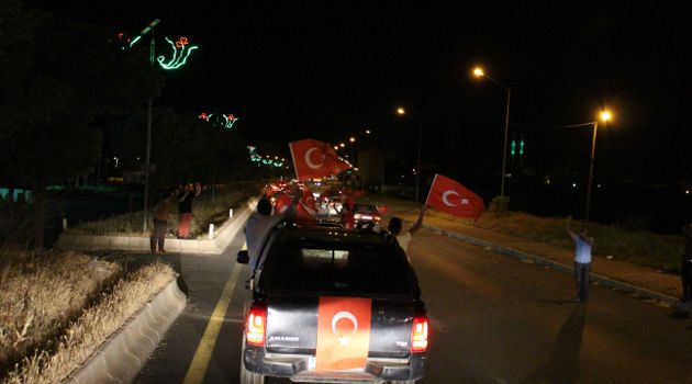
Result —
[{"label": "bright tan dry grass strip bordering the thick foreground curb", "polygon": [[26,357],[2,383],[63,381],[175,278],[176,272],[160,262],[133,272],[118,282],[110,293],[103,294],[97,305],[85,310],[59,338],[53,351],[42,350]]}]

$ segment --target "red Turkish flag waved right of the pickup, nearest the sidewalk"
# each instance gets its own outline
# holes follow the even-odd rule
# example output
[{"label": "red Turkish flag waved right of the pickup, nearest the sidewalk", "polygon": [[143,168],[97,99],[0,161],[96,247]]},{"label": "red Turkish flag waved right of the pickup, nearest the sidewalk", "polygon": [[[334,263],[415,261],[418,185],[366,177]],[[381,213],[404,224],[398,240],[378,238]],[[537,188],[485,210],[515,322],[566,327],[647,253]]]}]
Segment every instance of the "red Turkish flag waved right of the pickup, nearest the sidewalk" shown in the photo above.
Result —
[{"label": "red Turkish flag waved right of the pickup, nearest the sidewalk", "polygon": [[477,221],[485,205],[479,195],[442,174],[435,174],[425,204],[450,215]]}]

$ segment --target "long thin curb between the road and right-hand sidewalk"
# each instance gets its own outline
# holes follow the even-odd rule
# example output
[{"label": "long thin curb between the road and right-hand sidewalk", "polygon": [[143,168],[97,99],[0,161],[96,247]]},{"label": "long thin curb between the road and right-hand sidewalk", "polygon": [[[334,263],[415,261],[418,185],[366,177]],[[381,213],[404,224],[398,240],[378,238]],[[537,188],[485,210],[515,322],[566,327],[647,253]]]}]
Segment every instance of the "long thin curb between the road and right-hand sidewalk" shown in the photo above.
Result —
[{"label": "long thin curb between the road and right-hand sidewalk", "polygon": [[[479,247],[485,247],[485,248],[490,248],[492,251],[498,252],[498,253],[502,253],[502,255],[506,255],[506,256],[512,256],[525,261],[529,261],[539,266],[545,266],[545,267],[549,267],[556,271],[562,272],[562,273],[567,273],[567,274],[573,274],[574,273],[574,268],[571,266],[566,266],[562,264],[560,262],[554,261],[554,260],[549,260],[546,259],[544,257],[540,256],[536,256],[536,255],[532,255],[532,253],[527,253],[514,248],[510,248],[510,247],[505,247],[505,246],[501,246],[491,241],[487,241],[483,239],[479,239],[476,237],[471,237],[471,236],[466,236],[466,235],[461,235],[459,233],[456,231],[451,231],[451,230],[447,230],[447,229],[443,229],[443,228],[438,228],[432,225],[427,225],[424,224],[423,228],[443,234],[447,237],[451,237],[454,239],[457,240],[461,240],[461,241],[466,241],[466,242],[470,242],[476,246]],[[655,292],[655,291],[650,291],[640,286],[636,286],[629,283],[625,283],[622,281],[617,281],[617,280],[613,280],[596,273],[591,273],[591,281],[598,282],[601,285],[611,287],[611,289],[616,289],[620,291],[624,291],[624,292],[629,292],[633,294],[636,294],[637,296],[641,297],[641,298],[648,298],[648,300],[655,300],[658,302],[662,302],[668,304],[669,306],[677,308],[679,310],[684,310],[684,312],[690,312],[690,307],[684,304],[681,303],[680,301],[678,301],[678,298],[673,297],[673,296],[669,296],[659,292]]]}]

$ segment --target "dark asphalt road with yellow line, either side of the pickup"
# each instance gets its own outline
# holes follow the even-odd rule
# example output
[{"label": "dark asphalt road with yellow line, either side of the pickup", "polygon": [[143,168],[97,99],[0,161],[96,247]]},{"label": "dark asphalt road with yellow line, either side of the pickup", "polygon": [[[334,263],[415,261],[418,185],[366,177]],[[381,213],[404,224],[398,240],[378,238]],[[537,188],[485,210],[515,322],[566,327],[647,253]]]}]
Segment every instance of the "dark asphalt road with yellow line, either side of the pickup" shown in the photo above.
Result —
[{"label": "dark asphalt road with yellow line, either side of the pickup", "polygon": [[[136,383],[238,381],[248,274],[234,263],[242,237],[221,257],[166,256],[181,273],[189,305]],[[692,380],[692,320],[669,308],[598,285],[589,303],[577,304],[569,275],[426,230],[409,252],[432,324],[421,383]],[[212,317],[219,303],[227,310]]]}]

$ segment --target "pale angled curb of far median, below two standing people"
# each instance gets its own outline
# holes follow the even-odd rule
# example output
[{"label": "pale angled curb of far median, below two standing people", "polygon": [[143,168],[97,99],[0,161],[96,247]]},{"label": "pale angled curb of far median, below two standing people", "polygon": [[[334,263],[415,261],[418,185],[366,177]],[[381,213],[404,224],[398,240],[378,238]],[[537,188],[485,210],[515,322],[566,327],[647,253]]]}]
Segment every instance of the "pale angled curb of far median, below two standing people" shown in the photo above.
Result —
[{"label": "pale angled curb of far median, below two standing people", "polygon": [[[231,244],[233,237],[245,225],[247,217],[257,204],[257,199],[249,199],[241,208],[236,210],[233,217],[228,218],[216,231],[214,237],[182,240],[166,239],[166,250],[169,252],[221,255]],[[134,252],[149,252],[149,238],[144,236],[90,236],[60,234],[57,248],[65,250],[125,250]]]}]

